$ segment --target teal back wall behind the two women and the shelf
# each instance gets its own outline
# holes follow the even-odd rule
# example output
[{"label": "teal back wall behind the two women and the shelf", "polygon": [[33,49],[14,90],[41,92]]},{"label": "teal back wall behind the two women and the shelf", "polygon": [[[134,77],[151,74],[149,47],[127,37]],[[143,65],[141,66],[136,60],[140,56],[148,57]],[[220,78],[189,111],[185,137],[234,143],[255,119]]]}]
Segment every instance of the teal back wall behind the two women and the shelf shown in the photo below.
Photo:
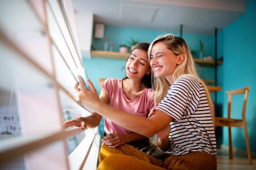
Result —
[{"label": "teal back wall behind the two women and the shelf", "polygon": [[[129,44],[131,38],[139,42],[152,42],[157,36],[166,33],[173,33],[180,36],[180,33],[150,31],[144,29],[132,29],[122,27],[105,26],[105,37],[109,38],[109,43],[112,42],[113,51],[118,52],[120,44]],[[213,28],[214,34],[214,28]],[[197,54],[200,52],[201,40],[204,44],[204,56],[212,56],[214,58],[214,36],[213,35],[195,35],[183,33],[183,38],[187,42],[191,50],[196,50]],[[221,40],[222,41],[222,40]],[[104,39],[93,39],[93,48],[96,50],[104,49]],[[197,58],[197,56],[196,56]],[[125,71],[122,67],[125,66],[124,60],[117,59],[100,59],[100,58],[83,58],[84,67],[88,72],[88,77],[93,82],[98,94],[100,94],[100,87],[98,86],[99,78],[118,78],[125,77]],[[121,71],[122,70],[122,71]],[[209,67],[199,67],[198,72],[201,78],[214,79],[214,69]],[[212,96],[214,100],[214,95]],[[104,120],[102,118],[100,123],[100,133],[104,133]]]}]

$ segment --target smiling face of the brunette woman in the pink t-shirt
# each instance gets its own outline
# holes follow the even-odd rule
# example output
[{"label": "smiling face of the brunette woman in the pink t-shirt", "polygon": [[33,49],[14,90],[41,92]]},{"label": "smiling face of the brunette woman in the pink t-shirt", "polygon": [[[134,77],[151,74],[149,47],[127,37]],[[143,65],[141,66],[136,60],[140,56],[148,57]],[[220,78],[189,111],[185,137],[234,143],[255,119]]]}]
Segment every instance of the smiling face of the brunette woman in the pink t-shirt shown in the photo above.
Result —
[{"label": "smiling face of the brunette woman in the pink t-shirt", "polygon": [[135,49],[126,62],[126,76],[130,79],[142,79],[150,73],[147,52],[142,49]]}]

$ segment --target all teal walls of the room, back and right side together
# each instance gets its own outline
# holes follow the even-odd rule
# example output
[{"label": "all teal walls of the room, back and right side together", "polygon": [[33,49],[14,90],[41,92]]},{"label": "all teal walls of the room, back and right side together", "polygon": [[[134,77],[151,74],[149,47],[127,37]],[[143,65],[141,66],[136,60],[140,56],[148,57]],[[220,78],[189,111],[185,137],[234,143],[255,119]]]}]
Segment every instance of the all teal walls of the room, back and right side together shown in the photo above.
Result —
[{"label": "all teal walls of the room, back and right side together", "polygon": [[[256,72],[256,56],[253,49],[256,46],[256,5],[254,0],[247,3],[247,10],[245,14],[240,16],[233,23],[228,25],[223,30],[218,30],[217,35],[217,59],[224,57],[224,64],[218,66],[218,83],[217,86],[222,87],[221,92],[217,92],[217,114],[218,116],[226,117],[227,112],[227,95],[225,91],[233,90],[250,86],[249,100],[247,104],[247,125],[249,131],[251,151],[256,151],[256,134],[253,129],[256,128],[256,79],[253,73]],[[180,36],[180,33],[151,31],[144,29],[132,29],[122,27],[105,27],[105,37],[109,38],[109,42],[114,43],[113,50],[118,52],[119,44],[128,44],[130,38],[139,40],[139,42],[152,42],[157,36],[165,33],[173,33]],[[214,34],[214,28],[213,28]],[[214,35],[195,35],[183,33],[183,38],[187,42],[191,50],[200,51],[199,40],[204,44],[204,56],[213,56],[214,58]],[[104,39],[93,39],[93,46],[97,50],[103,50]],[[197,58],[197,57],[196,57]],[[121,71],[125,65],[123,60],[115,59],[99,59],[99,58],[84,58],[84,66],[88,71],[88,76],[95,84],[98,93],[98,78],[123,78],[125,71]],[[214,69],[209,67],[199,67],[199,74],[201,78],[214,79]],[[215,95],[212,95],[215,100]],[[234,102],[242,99],[234,99]],[[235,118],[241,118],[240,105],[233,105],[233,114]],[[101,127],[104,126],[103,121]],[[237,148],[246,149],[244,142],[243,130],[239,128],[232,128],[233,130],[233,145]],[[217,144],[228,146],[228,129],[221,128],[216,131]]]}]

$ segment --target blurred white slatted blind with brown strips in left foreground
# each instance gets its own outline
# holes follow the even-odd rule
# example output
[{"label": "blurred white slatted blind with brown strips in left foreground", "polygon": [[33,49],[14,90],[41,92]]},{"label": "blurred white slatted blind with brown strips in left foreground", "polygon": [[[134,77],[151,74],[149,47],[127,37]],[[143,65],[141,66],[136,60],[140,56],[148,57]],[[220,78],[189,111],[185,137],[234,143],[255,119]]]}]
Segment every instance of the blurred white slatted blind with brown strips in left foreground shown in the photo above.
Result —
[{"label": "blurred white slatted blind with brown strips in left foreground", "polygon": [[62,128],[91,114],[73,90],[83,65],[64,6],[0,1],[0,169],[96,169],[98,129]]}]

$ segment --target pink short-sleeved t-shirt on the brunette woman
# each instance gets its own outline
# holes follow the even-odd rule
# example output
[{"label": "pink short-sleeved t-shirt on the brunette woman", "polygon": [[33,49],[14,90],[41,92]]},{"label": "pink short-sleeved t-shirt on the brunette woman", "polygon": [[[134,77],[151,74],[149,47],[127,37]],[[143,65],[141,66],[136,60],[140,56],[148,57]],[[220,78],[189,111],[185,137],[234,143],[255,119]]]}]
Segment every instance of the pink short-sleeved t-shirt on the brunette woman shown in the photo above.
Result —
[{"label": "pink short-sleeved t-shirt on the brunette woman", "polygon": [[[147,117],[147,114],[154,107],[154,96],[152,88],[145,88],[137,99],[129,100],[122,90],[123,79],[106,79],[101,85],[109,96],[109,104],[111,107],[125,111],[131,114],[137,114],[142,117]],[[129,134],[133,131],[127,130],[105,118],[104,129],[106,133]]]}]

